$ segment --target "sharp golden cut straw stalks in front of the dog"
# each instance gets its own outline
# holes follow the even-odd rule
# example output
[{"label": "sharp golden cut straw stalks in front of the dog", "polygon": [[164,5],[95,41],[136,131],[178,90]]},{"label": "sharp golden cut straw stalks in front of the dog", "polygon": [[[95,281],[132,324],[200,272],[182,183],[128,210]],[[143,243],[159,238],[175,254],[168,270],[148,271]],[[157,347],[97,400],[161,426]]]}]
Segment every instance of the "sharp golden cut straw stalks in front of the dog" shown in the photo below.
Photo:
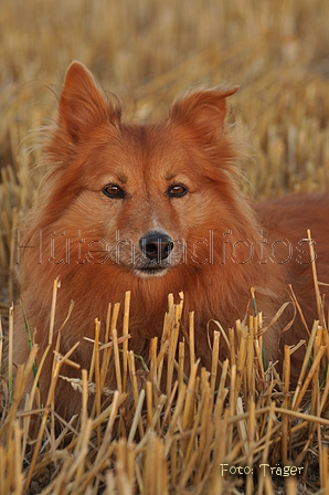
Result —
[{"label": "sharp golden cut straw stalks in front of the dog", "polygon": [[[54,304],[56,291],[55,283]],[[125,345],[129,337],[127,331],[117,338],[118,305],[113,312],[109,308],[106,331],[109,344],[98,341],[99,324],[95,322],[91,369],[88,373],[83,370],[81,380],[71,380],[72,387],[81,391],[82,408],[79,417],[72,418],[70,423],[54,412],[54,390],[57,380],[65,379],[61,376],[61,366],[67,362],[73,349],[65,356],[60,349],[55,352],[46,402],[42,410],[32,410],[42,373],[41,360],[31,393],[24,394],[35,358],[36,349],[32,348],[25,367],[18,369],[14,390],[11,379],[8,387],[2,385],[0,493],[96,494],[106,491],[153,495],[262,494],[265,491],[270,494],[275,489],[279,493],[285,486],[286,493],[293,494],[297,493],[297,486],[300,493],[306,493],[305,484],[309,493],[316,493],[320,486],[328,489],[329,380],[319,380],[326,376],[329,358],[328,330],[315,322],[298,386],[290,391],[289,364],[294,349],[285,349],[283,380],[274,364],[264,369],[257,331],[262,327],[261,314],[250,317],[248,326],[236,322],[235,329],[229,331],[230,361],[219,364],[219,347],[224,336],[214,331],[210,343],[213,356],[210,372],[198,369],[199,362],[193,358],[191,315],[191,371],[187,377],[183,370],[185,343],[179,338],[183,294],[180,297],[180,304],[174,305],[172,295],[169,296],[160,349],[157,352],[155,338],[148,367],[141,366]],[[126,330],[129,299],[127,293]],[[10,312],[10,349],[12,327]],[[50,343],[52,327],[53,318]],[[238,343],[236,348],[234,334]],[[167,372],[166,390],[160,390],[163,365],[173,372]],[[113,390],[103,389],[108,366],[115,376]],[[10,377],[11,368],[9,351]],[[219,386],[215,385],[217,373],[221,373]],[[306,393],[309,386],[311,394]],[[105,409],[100,409],[100,390],[112,397]],[[86,409],[88,394],[94,397],[91,417]],[[22,402],[24,407],[19,408]],[[36,434],[31,441],[30,421],[35,417]]]}]

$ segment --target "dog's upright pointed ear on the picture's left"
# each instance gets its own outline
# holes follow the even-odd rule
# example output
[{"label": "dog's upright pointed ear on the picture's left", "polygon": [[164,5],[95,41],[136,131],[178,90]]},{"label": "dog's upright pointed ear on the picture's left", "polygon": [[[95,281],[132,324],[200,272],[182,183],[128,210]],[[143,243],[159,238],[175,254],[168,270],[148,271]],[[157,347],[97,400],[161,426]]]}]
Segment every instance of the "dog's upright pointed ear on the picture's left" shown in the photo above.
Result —
[{"label": "dog's upright pointed ear on the picture's left", "polygon": [[81,62],[68,66],[60,98],[60,126],[73,144],[84,140],[91,128],[120,117],[120,108],[105,101],[92,73]]}]

